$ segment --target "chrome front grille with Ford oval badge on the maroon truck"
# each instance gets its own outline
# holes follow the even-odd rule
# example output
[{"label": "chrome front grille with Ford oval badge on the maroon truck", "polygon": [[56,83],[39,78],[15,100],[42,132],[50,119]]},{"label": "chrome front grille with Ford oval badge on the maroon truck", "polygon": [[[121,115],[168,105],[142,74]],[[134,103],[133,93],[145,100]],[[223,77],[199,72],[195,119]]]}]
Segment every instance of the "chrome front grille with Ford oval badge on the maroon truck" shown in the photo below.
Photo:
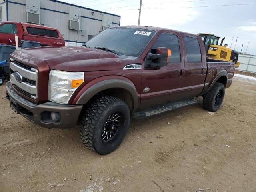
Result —
[{"label": "chrome front grille with Ford oval badge on the maroon truck", "polygon": [[37,70],[10,60],[10,81],[15,90],[32,99],[37,99]]}]

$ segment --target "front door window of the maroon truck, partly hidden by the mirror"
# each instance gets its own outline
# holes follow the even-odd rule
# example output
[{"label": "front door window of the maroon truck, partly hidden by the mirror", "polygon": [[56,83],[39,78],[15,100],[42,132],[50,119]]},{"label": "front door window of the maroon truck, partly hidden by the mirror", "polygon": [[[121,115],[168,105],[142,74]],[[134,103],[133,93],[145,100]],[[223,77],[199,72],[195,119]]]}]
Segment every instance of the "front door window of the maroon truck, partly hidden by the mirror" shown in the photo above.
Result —
[{"label": "front door window of the maroon truck, partly hidden by the mirror", "polygon": [[160,34],[155,44],[151,48],[151,53],[156,54],[157,47],[166,47],[170,50],[170,56],[168,57],[168,63],[180,62],[180,46],[178,37],[174,34]]}]

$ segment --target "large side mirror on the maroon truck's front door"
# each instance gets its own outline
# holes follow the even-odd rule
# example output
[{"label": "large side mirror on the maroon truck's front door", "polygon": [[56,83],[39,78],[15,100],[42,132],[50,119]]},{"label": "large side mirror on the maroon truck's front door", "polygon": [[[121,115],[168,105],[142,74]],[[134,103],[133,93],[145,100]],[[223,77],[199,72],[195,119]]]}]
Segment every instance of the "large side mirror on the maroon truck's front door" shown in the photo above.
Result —
[{"label": "large side mirror on the maroon truck's front door", "polygon": [[156,54],[149,53],[145,68],[160,68],[167,65],[168,49],[166,47],[156,48]]}]

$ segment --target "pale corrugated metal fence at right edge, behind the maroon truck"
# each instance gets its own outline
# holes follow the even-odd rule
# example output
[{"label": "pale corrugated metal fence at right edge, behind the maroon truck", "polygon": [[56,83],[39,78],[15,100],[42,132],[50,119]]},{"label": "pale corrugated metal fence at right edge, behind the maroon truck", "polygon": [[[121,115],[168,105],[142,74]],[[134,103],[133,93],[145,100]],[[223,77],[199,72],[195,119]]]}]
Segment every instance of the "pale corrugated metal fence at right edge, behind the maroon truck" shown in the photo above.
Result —
[{"label": "pale corrugated metal fence at right edge, behind the maroon truck", "polygon": [[241,64],[236,70],[256,73],[256,56],[239,55],[238,61]]}]

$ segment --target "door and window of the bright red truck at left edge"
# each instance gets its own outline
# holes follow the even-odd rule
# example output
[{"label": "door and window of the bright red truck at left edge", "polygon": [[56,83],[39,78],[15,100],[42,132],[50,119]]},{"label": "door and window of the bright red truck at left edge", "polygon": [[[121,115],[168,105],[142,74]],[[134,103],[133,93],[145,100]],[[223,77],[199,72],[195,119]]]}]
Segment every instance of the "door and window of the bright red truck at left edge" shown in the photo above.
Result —
[{"label": "door and window of the bright red truck at left edge", "polygon": [[[14,23],[4,23],[0,26],[0,43],[15,45],[14,34],[17,32],[17,26]],[[10,40],[12,40],[12,43]]]}]

